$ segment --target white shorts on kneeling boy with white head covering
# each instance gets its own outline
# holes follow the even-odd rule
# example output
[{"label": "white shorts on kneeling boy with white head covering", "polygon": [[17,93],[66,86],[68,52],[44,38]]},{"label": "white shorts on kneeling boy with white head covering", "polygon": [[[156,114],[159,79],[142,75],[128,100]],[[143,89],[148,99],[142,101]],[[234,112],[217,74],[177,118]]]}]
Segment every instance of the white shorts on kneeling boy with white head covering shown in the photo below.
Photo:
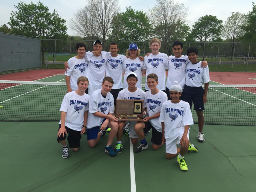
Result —
[{"label": "white shorts on kneeling boy with white head covering", "polygon": [[[170,153],[170,154],[176,154],[177,153],[177,144],[180,146],[180,139],[182,138],[184,133],[184,129],[179,129],[175,130],[175,136],[170,137],[170,138],[165,138],[166,139],[166,144],[165,144],[165,152]],[[189,139],[189,130],[187,137]]]}]

